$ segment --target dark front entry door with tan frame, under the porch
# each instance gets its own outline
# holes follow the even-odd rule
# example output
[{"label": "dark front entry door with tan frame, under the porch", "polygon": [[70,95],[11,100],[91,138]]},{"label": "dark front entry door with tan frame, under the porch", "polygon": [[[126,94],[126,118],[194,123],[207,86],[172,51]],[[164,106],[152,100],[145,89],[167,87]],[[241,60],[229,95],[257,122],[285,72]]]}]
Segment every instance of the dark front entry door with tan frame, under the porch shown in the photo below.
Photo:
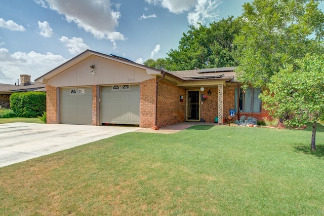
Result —
[{"label": "dark front entry door with tan frame, under the porch", "polygon": [[187,90],[186,121],[200,121],[200,91],[199,90]]}]

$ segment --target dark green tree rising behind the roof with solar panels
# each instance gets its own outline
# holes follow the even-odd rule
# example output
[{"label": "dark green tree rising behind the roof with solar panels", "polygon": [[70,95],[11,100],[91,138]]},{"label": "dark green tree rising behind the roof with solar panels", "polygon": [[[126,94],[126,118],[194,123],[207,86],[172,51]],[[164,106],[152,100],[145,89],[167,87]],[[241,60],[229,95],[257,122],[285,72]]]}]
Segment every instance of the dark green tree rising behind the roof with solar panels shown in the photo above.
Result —
[{"label": "dark green tree rising behind the roof with solar panels", "polygon": [[183,33],[178,49],[171,49],[167,57],[167,70],[236,66],[233,40],[240,30],[240,22],[232,16],[213,22],[210,27],[199,24],[189,26]]}]

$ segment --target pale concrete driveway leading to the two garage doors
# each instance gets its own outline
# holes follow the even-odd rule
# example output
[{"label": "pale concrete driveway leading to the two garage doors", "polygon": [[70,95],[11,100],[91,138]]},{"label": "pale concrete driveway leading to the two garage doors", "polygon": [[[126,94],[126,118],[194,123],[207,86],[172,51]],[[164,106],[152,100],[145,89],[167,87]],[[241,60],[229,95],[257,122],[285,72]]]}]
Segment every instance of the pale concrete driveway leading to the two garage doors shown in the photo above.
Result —
[{"label": "pale concrete driveway leading to the two garage doors", "polygon": [[135,126],[0,124],[0,167],[139,129]]}]

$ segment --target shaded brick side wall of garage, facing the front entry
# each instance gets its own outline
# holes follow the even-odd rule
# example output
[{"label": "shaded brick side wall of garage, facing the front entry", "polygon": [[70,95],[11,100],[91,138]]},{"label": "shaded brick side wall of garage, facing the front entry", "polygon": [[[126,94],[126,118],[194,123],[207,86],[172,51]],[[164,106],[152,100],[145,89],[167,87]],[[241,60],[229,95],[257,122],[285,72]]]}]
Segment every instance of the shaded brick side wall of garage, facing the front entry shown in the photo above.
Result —
[{"label": "shaded brick side wall of garage, facing the front entry", "polygon": [[[180,102],[180,95],[184,97]],[[185,121],[186,90],[161,80],[158,83],[157,127]]]}]

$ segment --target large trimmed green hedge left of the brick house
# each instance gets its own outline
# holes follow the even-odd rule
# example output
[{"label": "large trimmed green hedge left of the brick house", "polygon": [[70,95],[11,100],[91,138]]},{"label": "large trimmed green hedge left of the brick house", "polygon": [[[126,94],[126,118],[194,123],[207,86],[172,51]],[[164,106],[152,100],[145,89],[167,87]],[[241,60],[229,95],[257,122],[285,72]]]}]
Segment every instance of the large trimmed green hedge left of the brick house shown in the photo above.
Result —
[{"label": "large trimmed green hedge left of the brick house", "polygon": [[10,107],[17,117],[34,118],[41,116],[46,111],[46,93],[13,93],[10,96]]}]

